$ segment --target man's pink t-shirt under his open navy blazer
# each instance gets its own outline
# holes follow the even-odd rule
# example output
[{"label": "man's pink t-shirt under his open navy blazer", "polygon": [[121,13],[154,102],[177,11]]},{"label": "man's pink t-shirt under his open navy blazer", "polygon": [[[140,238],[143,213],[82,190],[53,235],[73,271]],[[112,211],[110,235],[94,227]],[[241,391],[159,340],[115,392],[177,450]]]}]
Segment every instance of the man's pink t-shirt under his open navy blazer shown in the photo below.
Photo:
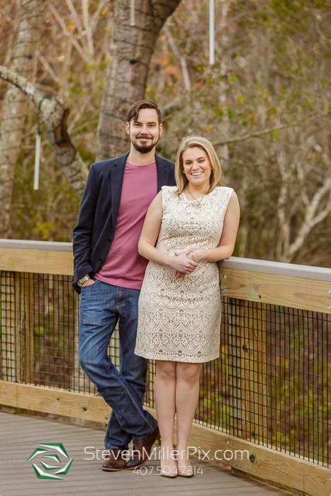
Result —
[{"label": "man's pink t-shirt under his open navy blazer", "polygon": [[141,288],[148,260],[138,253],[138,241],[147,209],[156,195],[156,162],[126,162],[115,236],[96,279],[122,288]]}]

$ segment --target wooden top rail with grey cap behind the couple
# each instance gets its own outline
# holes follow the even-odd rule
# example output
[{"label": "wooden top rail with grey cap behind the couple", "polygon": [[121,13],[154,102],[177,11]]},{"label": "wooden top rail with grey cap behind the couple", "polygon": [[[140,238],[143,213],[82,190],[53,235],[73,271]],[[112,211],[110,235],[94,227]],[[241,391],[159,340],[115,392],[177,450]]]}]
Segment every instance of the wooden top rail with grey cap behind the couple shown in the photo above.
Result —
[{"label": "wooden top rail with grey cap behind the couple", "polygon": [[[224,296],[331,313],[331,269],[239,257],[219,267]],[[72,243],[0,239],[0,269],[73,276]]]}]

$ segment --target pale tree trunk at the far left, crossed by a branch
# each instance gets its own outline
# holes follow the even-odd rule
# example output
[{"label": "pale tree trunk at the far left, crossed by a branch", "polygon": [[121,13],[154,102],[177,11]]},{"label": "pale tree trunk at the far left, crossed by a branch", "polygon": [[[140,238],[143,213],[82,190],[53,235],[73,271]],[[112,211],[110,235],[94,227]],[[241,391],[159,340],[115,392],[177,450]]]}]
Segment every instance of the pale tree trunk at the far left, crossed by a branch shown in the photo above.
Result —
[{"label": "pale tree trunk at the far left, crossed by a branch", "polygon": [[[33,72],[33,54],[40,39],[46,0],[22,0],[22,17],[16,43],[13,46],[10,68],[30,78]],[[28,99],[9,85],[2,106],[0,123],[0,237],[6,238],[9,229],[13,176],[18,155]]]}]

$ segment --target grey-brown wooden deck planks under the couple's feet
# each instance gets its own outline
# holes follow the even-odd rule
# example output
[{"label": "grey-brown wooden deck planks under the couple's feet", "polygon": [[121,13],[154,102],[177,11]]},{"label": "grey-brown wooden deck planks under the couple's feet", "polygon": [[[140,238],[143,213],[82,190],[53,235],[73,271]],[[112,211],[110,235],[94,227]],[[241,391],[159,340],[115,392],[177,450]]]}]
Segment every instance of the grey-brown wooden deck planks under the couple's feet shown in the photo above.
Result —
[{"label": "grey-brown wooden deck planks under the couple's feet", "polygon": [[[95,495],[95,496],[281,496],[288,492],[276,489],[253,479],[241,479],[230,470],[192,457],[193,466],[201,466],[203,475],[193,478],[167,479],[156,475],[159,462],[147,463],[147,475],[128,470],[105,473],[102,460],[85,460],[86,446],[103,450],[104,431],[49,422],[35,417],[10,415],[0,412],[0,495]],[[72,466],[63,480],[40,480],[36,477],[28,456],[38,443],[62,443]],[[94,450],[95,453],[95,450]],[[99,455],[100,456],[100,455]],[[101,458],[101,456],[100,456]],[[40,456],[35,463],[40,466]],[[46,460],[47,461],[47,460]],[[62,464],[63,466],[63,464]],[[152,473],[150,474],[150,471]],[[154,475],[155,474],[155,475]]]}]

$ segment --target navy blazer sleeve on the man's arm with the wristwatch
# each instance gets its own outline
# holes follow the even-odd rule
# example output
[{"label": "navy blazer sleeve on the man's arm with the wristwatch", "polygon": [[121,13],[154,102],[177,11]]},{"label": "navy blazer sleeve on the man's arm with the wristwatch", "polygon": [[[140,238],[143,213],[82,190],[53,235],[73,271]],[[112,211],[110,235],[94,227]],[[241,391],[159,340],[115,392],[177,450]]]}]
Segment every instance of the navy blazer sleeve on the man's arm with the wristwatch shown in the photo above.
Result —
[{"label": "navy blazer sleeve on the man's arm with the wristwatch", "polygon": [[[91,239],[96,213],[96,203],[98,195],[96,193],[96,179],[94,164],[89,169],[85,190],[79,209],[77,225],[74,227],[72,246],[74,251],[74,283],[73,286],[77,291],[76,282],[85,276],[85,274],[94,275],[94,270],[90,265],[91,257]],[[76,287],[77,286],[77,287]]]}]

